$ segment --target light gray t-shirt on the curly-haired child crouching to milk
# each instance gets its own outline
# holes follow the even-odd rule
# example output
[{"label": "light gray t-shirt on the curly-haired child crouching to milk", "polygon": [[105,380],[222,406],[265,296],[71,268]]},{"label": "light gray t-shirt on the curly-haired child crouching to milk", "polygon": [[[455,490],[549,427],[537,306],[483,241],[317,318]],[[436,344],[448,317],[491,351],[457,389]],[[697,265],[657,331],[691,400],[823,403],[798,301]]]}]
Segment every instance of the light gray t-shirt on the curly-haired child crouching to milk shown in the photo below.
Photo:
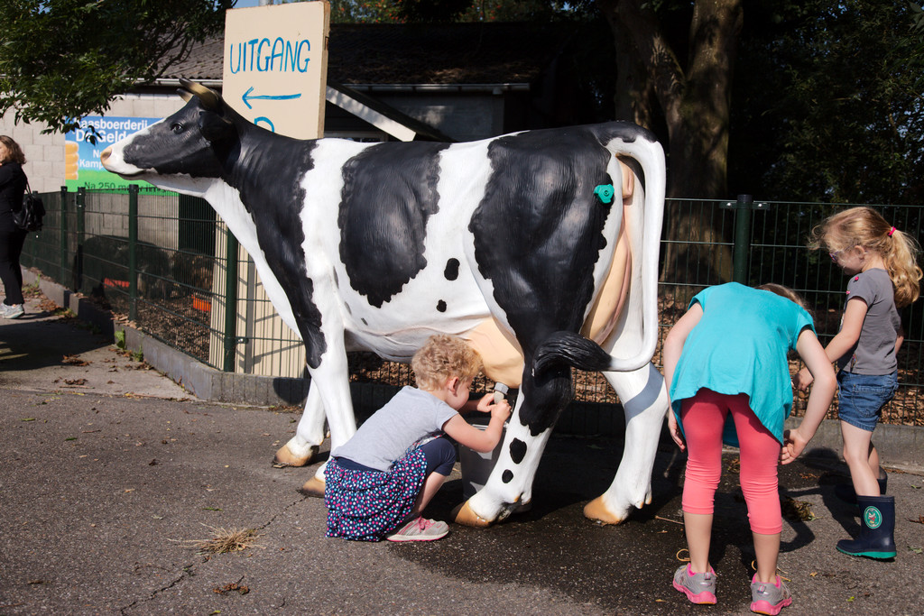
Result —
[{"label": "light gray t-shirt on the curly-haired child crouching to milk", "polygon": [[444,424],[455,416],[456,409],[432,393],[405,387],[331,455],[389,471],[411,445],[442,434]]}]

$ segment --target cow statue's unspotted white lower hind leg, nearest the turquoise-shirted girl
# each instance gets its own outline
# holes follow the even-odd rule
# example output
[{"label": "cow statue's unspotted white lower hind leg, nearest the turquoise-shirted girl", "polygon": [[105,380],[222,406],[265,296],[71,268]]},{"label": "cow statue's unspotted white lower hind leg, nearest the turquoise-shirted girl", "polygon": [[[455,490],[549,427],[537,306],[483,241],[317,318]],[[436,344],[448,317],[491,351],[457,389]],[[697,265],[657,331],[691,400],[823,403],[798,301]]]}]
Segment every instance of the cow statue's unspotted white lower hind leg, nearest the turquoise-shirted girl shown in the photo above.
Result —
[{"label": "cow statue's unspotted white lower hind leg, nearest the turquoise-shirted girl", "polygon": [[664,378],[652,364],[604,376],[626,411],[626,443],[613,483],[584,507],[584,515],[602,524],[619,524],[633,507],[640,509],[651,501],[651,470],[668,398]]}]

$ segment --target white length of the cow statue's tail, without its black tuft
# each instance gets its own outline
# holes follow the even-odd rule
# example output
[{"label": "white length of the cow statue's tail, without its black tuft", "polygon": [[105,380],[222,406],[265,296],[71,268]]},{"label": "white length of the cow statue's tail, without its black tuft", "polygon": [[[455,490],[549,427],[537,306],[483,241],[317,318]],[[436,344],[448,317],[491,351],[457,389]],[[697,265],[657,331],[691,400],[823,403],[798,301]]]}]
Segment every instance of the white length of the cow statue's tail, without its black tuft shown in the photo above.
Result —
[{"label": "white length of the cow statue's tail, without its black tuft", "polygon": [[[661,226],[664,218],[664,195],[667,186],[667,172],[664,164],[664,151],[654,136],[636,134],[634,139],[616,138],[607,144],[614,155],[626,155],[641,165],[645,175],[645,212],[642,229],[641,246],[641,308],[642,308],[642,342],[635,356],[610,356],[609,365],[604,370],[628,372],[637,370],[650,363],[658,344],[658,255],[661,251]],[[633,261],[636,261],[633,254]],[[635,270],[635,265],[632,269]],[[633,275],[633,278],[635,276]],[[637,289],[633,289],[633,293]]]}]

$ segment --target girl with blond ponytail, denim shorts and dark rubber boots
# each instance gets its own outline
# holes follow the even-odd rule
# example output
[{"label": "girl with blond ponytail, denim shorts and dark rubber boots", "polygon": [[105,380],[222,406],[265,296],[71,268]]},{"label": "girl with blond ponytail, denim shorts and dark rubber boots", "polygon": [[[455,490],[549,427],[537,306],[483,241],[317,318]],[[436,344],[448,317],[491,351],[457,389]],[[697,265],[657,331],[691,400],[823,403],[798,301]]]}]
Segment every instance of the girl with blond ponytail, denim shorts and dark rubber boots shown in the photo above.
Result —
[{"label": "girl with blond ponytail, denim shorts and dark rubber boots", "polygon": [[[871,208],[834,214],[812,232],[809,248],[826,248],[850,276],[841,330],[825,348],[837,363],[838,417],[844,460],[852,489],[836,490],[857,503],[861,514],[857,539],[842,539],[837,550],[874,559],[894,558],[895,500],[885,496],[887,477],[872,444],[882,406],[898,389],[898,349],[905,340],[898,309],[920,293],[921,270],[914,239],[887,223]],[[807,390],[811,375],[803,369],[796,385]]]}]

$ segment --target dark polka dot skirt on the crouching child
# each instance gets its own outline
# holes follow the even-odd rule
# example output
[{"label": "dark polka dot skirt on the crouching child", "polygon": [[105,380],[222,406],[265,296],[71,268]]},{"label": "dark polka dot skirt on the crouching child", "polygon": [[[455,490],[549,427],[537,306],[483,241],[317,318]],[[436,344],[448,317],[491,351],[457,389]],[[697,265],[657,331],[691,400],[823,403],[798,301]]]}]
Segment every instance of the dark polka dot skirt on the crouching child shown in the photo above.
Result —
[{"label": "dark polka dot skirt on the crouching child", "polygon": [[427,473],[427,458],[415,449],[387,473],[349,470],[335,459],[324,469],[327,537],[381,541],[414,508]]}]

